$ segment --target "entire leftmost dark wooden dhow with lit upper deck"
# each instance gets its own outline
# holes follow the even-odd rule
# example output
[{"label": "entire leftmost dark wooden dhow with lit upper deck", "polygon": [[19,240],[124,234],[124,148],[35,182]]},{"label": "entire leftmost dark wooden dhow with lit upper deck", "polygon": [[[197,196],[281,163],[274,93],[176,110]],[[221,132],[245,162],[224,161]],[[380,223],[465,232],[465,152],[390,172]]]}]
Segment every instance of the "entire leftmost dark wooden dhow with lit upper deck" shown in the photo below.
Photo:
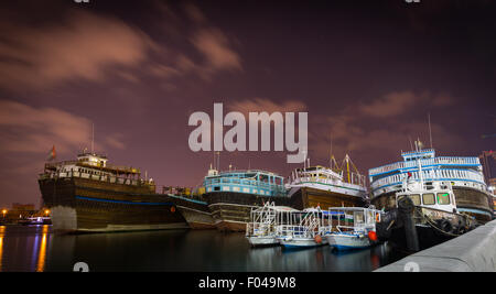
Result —
[{"label": "entire leftmost dark wooden dhow with lit upper deck", "polygon": [[155,193],[138,168],[116,166],[84,152],[76,161],[47,162],[39,177],[55,232],[187,228],[171,197]]}]

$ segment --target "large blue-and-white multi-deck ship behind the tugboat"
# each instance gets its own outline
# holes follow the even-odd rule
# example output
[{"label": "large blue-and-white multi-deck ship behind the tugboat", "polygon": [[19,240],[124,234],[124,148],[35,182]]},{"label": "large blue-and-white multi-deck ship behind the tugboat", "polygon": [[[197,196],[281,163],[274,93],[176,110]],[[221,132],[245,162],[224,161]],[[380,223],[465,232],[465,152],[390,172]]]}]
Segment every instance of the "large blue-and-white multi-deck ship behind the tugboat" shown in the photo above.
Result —
[{"label": "large blue-and-white multi-deck ship behind the tugboat", "polygon": [[436,156],[433,149],[421,149],[421,142],[416,142],[416,151],[401,153],[403,161],[369,170],[371,203],[376,207],[395,208],[396,194],[409,177],[428,186],[450,183],[457,211],[474,216],[483,224],[492,219],[490,196],[478,157]]}]

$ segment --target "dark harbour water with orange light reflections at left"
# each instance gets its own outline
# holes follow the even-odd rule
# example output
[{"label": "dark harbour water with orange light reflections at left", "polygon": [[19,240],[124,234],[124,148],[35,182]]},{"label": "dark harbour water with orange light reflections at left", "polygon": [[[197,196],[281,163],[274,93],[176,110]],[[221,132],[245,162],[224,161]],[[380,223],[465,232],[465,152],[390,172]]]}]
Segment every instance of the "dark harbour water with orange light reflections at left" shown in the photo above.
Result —
[{"label": "dark harbour water with orange light reflections at left", "polygon": [[405,254],[381,244],[351,253],[330,247],[251,249],[242,233],[173,230],[58,236],[51,226],[0,226],[0,271],[373,271]]}]

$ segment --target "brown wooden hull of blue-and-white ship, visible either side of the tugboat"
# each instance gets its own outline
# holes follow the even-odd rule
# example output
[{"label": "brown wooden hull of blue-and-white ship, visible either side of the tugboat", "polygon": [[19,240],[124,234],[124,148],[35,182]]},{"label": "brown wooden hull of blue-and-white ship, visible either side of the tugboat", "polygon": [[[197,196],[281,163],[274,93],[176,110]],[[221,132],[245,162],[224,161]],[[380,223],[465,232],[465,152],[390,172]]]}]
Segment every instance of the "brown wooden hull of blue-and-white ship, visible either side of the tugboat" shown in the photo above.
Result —
[{"label": "brown wooden hull of blue-and-white ship, visible either side of the tugboat", "polygon": [[[492,220],[493,209],[489,205],[490,196],[473,188],[453,187],[456,207],[461,213],[475,217],[479,224]],[[378,209],[390,210],[396,207],[396,192],[381,194],[371,199]]]}]

